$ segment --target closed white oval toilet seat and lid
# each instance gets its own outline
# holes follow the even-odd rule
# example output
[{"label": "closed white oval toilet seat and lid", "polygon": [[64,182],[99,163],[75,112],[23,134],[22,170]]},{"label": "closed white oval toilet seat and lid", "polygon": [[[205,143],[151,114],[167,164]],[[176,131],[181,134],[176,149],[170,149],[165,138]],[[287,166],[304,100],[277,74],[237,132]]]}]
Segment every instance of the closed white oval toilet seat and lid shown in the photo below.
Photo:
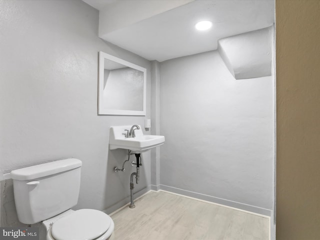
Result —
[{"label": "closed white oval toilet seat and lid", "polygon": [[80,209],[54,221],[49,231],[54,240],[93,240],[106,239],[113,228],[112,219],[104,212]]}]

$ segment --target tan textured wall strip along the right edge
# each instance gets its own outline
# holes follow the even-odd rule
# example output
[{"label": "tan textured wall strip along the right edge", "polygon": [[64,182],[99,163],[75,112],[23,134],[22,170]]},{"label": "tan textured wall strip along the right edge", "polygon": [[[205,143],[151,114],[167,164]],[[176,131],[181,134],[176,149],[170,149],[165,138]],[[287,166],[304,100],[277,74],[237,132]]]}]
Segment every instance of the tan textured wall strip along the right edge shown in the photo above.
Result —
[{"label": "tan textured wall strip along the right edge", "polygon": [[275,13],[276,239],[320,239],[320,1]]}]

